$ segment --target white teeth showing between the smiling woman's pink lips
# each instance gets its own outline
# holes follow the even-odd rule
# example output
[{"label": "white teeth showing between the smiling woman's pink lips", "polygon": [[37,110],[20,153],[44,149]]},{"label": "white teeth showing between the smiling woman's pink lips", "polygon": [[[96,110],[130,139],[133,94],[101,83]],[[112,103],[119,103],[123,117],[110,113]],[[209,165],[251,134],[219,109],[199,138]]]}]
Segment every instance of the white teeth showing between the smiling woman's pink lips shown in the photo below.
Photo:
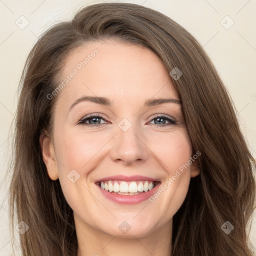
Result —
[{"label": "white teeth showing between the smiling woman's pink lips", "polygon": [[136,195],[150,191],[158,183],[160,182],[151,180],[104,180],[96,182],[96,185],[98,185],[101,189],[111,193],[122,195]]}]

